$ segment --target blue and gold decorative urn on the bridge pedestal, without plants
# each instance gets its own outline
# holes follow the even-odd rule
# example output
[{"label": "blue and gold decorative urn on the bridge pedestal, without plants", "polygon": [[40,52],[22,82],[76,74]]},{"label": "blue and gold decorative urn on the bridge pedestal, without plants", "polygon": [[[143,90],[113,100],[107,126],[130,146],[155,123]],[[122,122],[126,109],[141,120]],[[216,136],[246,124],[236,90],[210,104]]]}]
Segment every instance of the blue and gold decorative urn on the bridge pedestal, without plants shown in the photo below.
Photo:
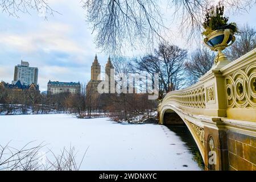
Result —
[{"label": "blue and gold decorative urn on the bridge pedestal, without plants", "polygon": [[222,60],[227,60],[226,56],[221,51],[231,46],[235,40],[236,38],[232,30],[215,30],[204,39],[204,44],[213,51],[218,51],[218,55],[214,60],[215,64],[217,64]]}]

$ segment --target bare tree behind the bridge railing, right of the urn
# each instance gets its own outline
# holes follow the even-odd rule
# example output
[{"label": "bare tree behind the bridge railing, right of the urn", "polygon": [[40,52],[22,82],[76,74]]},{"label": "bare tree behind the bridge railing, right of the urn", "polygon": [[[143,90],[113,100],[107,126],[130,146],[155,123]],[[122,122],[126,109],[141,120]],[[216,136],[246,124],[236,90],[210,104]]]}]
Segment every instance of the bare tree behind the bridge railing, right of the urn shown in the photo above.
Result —
[{"label": "bare tree behind the bridge railing, right of the urn", "polygon": [[236,60],[256,47],[256,30],[248,24],[243,25],[240,34],[236,36],[236,42],[226,50],[230,60]]}]

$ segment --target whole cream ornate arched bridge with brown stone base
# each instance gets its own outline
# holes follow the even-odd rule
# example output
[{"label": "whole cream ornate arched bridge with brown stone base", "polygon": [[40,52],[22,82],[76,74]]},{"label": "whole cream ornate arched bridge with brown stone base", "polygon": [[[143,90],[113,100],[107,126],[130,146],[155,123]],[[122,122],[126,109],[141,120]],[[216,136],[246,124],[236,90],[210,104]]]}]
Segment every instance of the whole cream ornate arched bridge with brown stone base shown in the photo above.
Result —
[{"label": "whole cream ornate arched bridge with brown stone base", "polygon": [[160,124],[188,127],[206,170],[256,170],[256,48],[168,93],[158,109]]}]

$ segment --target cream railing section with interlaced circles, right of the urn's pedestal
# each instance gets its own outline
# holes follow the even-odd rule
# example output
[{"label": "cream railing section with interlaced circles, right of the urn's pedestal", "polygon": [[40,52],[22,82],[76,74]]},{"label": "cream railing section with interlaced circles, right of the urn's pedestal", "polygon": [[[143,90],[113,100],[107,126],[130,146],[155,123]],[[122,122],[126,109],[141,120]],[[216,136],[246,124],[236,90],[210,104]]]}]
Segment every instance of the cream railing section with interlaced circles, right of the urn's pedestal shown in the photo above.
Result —
[{"label": "cream railing section with interlaced circles, right of the urn's pedestal", "polygon": [[256,49],[226,65],[226,117],[256,121]]}]

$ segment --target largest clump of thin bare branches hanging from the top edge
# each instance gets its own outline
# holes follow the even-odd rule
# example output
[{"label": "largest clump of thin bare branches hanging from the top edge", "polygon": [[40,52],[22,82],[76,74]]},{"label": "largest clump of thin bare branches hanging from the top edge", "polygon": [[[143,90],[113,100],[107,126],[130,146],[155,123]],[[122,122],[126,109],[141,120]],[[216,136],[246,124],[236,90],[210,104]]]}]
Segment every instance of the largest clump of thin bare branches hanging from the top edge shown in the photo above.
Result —
[{"label": "largest clump of thin bare branches hanging from the top edge", "polygon": [[164,28],[157,0],[86,0],[88,22],[98,48],[120,53],[137,44],[152,44]]}]

